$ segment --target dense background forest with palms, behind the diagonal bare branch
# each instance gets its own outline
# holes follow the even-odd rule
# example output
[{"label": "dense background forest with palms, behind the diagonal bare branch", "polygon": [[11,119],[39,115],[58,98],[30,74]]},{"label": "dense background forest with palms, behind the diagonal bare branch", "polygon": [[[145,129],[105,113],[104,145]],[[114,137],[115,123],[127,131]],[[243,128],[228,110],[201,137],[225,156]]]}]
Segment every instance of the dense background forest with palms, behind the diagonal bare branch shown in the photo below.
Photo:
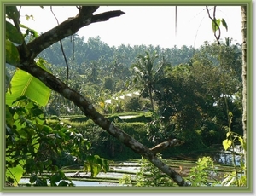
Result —
[{"label": "dense background forest with palms, behind the diagonal bare branch", "polygon": [[[69,85],[90,97],[106,116],[114,114],[111,120],[149,147],[172,138],[185,141],[178,147],[182,152],[220,144],[229,125],[227,111],[233,113],[231,130],[242,134],[241,48],[238,43],[232,44],[231,38],[226,38],[221,45],[206,42],[199,49],[187,46],[161,49],[145,45],[115,48],[102,43],[100,37],[89,38],[87,42],[84,37],[75,37],[73,41],[66,38],[63,46],[70,66]],[[61,52],[60,45],[55,43],[41,56],[52,63],[49,69],[65,80],[66,66],[58,52]],[[140,68],[143,75],[137,75],[139,71],[134,67]],[[142,114],[141,118],[120,120],[121,112],[152,109],[149,86],[155,112],[148,118]],[[141,96],[115,99],[137,91],[142,92]],[[119,141],[103,134],[104,131],[91,121],[87,122],[86,117],[75,118],[80,114],[79,108],[55,92],[46,111],[49,116],[57,115],[66,121],[65,116],[71,122],[81,120],[73,126],[93,142],[97,153],[111,159],[115,156],[137,158],[130,149],[113,153],[114,149],[126,147],[119,147],[122,146]],[[172,156],[172,153],[164,152],[163,156]]]}]

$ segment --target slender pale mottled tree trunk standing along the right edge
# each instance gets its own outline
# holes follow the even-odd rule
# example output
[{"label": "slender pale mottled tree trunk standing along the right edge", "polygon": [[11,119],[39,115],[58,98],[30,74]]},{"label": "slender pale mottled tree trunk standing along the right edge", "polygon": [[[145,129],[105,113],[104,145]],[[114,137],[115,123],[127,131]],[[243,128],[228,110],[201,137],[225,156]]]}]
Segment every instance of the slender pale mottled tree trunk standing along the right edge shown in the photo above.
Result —
[{"label": "slender pale mottled tree trunk standing along the right edge", "polygon": [[[247,141],[247,6],[241,6],[241,53],[242,53],[242,129],[243,139]],[[244,159],[247,163],[247,153],[244,150]]]}]

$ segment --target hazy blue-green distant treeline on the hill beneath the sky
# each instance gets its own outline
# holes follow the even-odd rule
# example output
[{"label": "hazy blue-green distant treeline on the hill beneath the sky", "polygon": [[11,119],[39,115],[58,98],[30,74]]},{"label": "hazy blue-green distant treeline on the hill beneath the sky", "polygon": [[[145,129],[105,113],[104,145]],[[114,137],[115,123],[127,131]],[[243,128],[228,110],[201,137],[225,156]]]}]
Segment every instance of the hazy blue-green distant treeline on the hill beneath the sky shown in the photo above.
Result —
[{"label": "hazy blue-green distant treeline on the hill beneath the sky", "polygon": [[[174,46],[172,49],[154,47],[153,45],[120,45],[119,47],[110,47],[107,43],[103,43],[100,37],[90,37],[85,42],[84,37],[67,37],[62,40],[63,48],[67,56],[67,60],[71,64],[82,65],[90,61],[101,61],[104,63],[117,61],[125,66],[131,66],[137,59],[138,54],[144,54],[145,51],[156,53],[160,57],[165,57],[166,61],[172,66],[181,63],[188,63],[197,49],[192,46],[183,45],[181,48]],[[61,53],[60,43],[55,43],[48,49],[45,49],[40,56],[55,66],[65,66],[65,61]],[[72,66],[72,65],[71,65]]]}]

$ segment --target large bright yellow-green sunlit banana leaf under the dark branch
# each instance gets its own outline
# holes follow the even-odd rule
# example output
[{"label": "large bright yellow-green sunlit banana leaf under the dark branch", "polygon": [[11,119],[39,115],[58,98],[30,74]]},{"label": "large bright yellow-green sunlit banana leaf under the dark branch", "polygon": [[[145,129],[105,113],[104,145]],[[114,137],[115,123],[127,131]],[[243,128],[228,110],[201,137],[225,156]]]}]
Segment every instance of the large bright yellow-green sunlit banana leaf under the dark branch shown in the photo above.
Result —
[{"label": "large bright yellow-green sunlit banana leaf under the dark branch", "polygon": [[[22,95],[26,95],[43,107],[46,106],[49,101],[51,90],[38,80],[38,78],[33,77],[28,72],[17,69],[11,80],[11,86],[12,93],[6,93],[6,104],[9,106]],[[19,105],[19,102],[15,104]]]}]

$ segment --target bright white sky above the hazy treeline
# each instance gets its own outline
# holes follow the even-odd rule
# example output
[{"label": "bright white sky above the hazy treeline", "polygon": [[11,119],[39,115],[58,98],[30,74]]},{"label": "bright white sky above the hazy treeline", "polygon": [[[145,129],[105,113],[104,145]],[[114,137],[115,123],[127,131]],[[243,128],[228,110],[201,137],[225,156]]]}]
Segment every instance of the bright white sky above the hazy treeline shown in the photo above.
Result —
[{"label": "bright white sky above the hazy treeline", "polygon": [[[212,6],[208,7],[212,15]],[[78,14],[75,6],[53,6],[55,16],[61,23]],[[177,6],[177,33],[175,31],[175,6],[101,6],[95,14],[110,10],[121,10],[125,14],[108,21],[84,26],[79,37],[87,41],[89,37],[101,37],[103,43],[118,47],[121,44],[153,45],[172,48],[174,45],[200,47],[204,41],[212,43],[212,21],[205,6]],[[22,7],[20,22],[38,32],[46,32],[57,25],[49,6]],[[33,15],[34,20],[26,20],[25,15]],[[226,21],[228,32],[221,26],[221,38],[233,38],[233,43],[241,43],[240,6],[217,6],[216,18]]]}]

